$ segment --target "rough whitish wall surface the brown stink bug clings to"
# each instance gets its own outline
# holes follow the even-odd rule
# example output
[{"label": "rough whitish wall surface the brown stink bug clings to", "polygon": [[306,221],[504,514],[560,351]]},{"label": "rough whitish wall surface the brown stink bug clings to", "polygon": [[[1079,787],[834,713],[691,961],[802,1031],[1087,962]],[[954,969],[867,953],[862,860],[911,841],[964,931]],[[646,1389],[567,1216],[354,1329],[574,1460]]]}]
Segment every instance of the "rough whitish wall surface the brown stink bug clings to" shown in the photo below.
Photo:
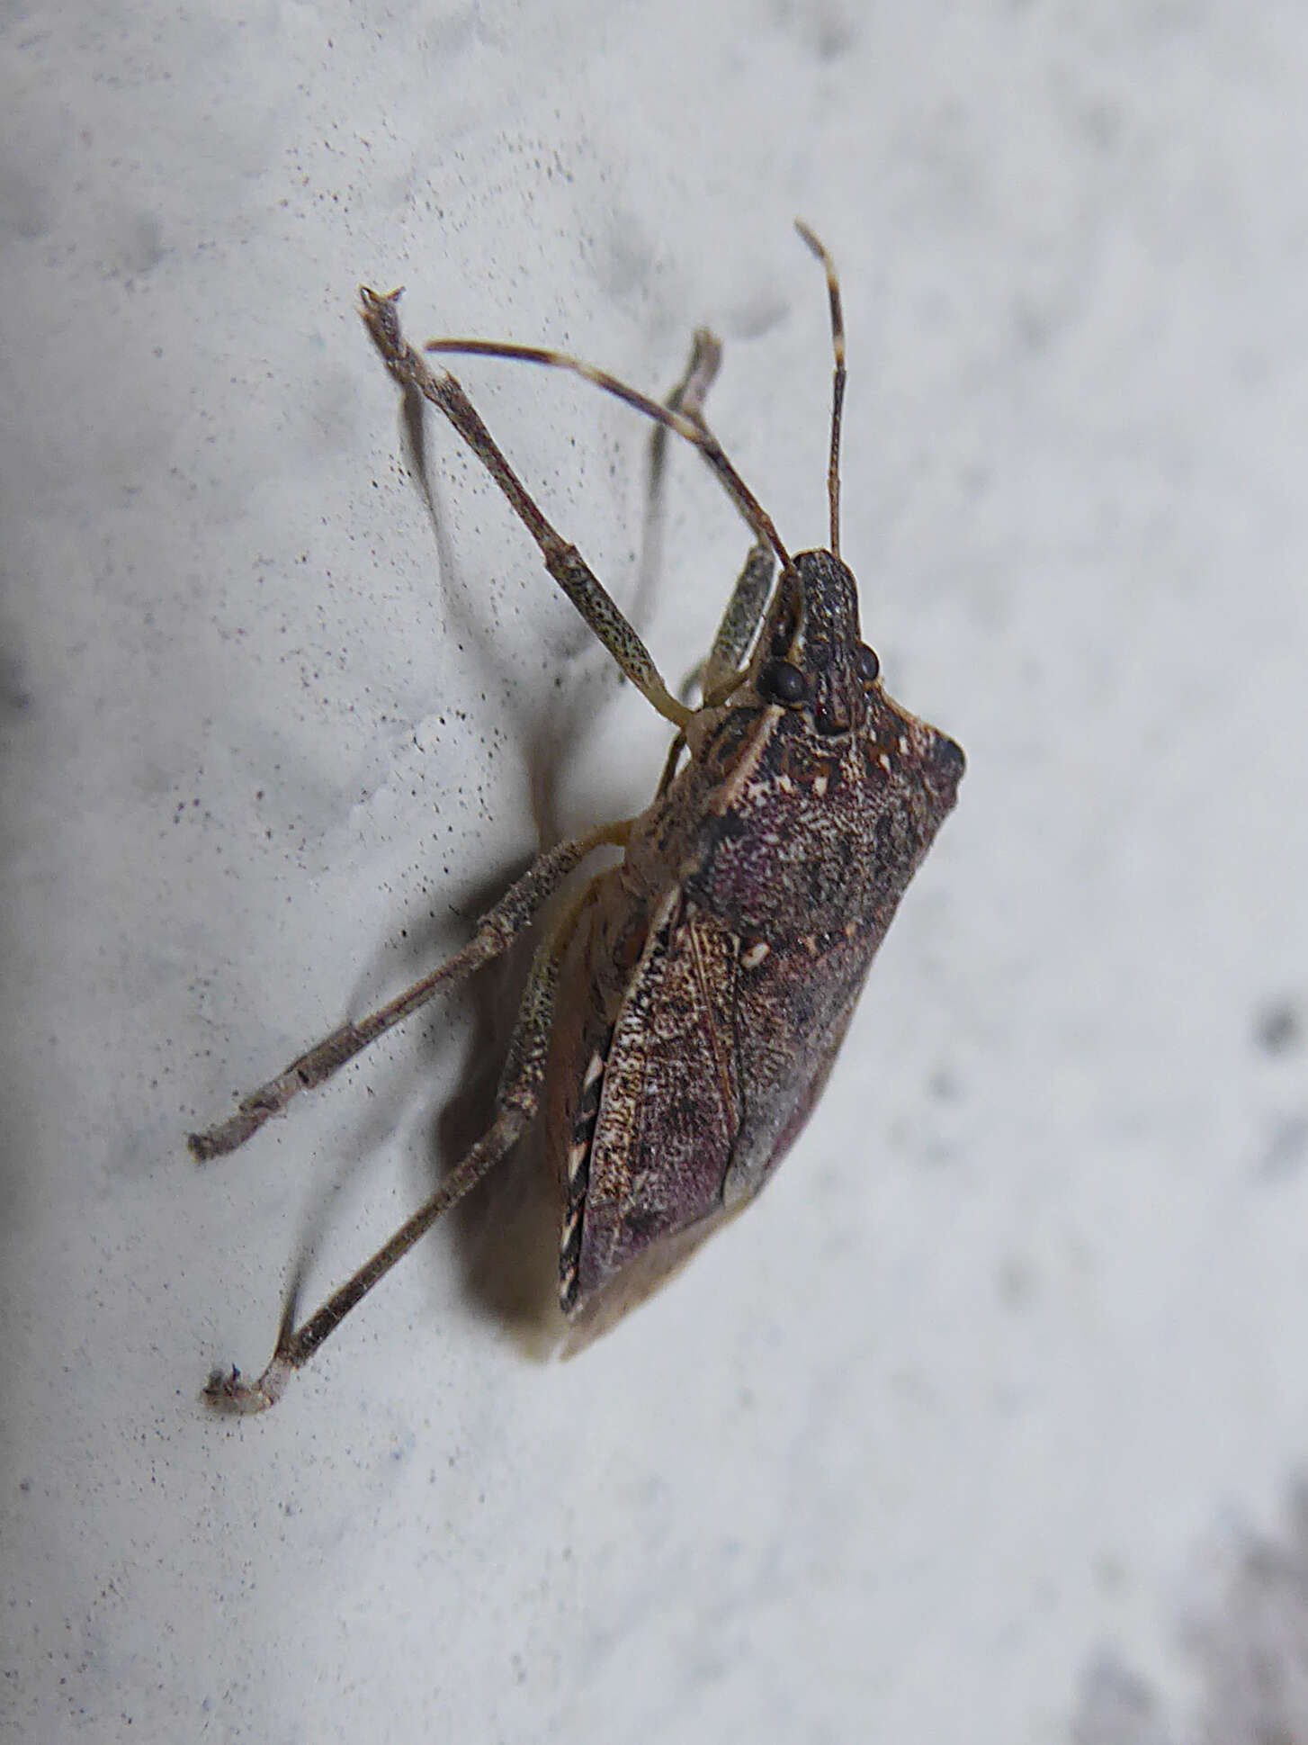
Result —
[{"label": "rough whitish wall surface the brown stink bug clings to", "polygon": [[[1308,1455],[1303,10],[105,0],[0,54],[12,1736],[1198,1740],[1196,1570]],[[821,1112],[574,1365],[520,1166],[208,1417],[303,1241],[314,1297],[424,1194],[474,1007],[185,1131],[661,756],[433,429],[438,562],[354,286],[652,389],[710,321],[804,546],[797,213],[869,639],[971,761]],[[640,590],[638,421],[460,373],[680,677],[712,483]]]}]

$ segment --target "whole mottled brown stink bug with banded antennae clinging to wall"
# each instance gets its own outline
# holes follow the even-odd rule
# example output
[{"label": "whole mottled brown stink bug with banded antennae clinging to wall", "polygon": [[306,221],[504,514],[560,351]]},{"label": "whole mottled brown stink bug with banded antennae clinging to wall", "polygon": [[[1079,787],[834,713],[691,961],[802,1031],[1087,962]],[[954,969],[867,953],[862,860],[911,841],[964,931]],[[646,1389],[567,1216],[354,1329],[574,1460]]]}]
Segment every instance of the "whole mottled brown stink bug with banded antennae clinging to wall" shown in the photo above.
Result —
[{"label": "whole mottled brown stink bug with banded antennae clinging to wall", "polygon": [[877,946],[954,806],[964,761],[954,740],[891,701],[858,630],[855,578],[841,562],[841,291],[827,250],[804,225],[799,232],[827,269],[835,351],[828,551],[792,558],[710,433],[703,401],[720,356],[712,333],[696,333],[666,403],[553,351],[487,340],[426,347],[574,370],[701,452],[753,546],[698,675],[698,708],[668,693],[637,632],[527,494],[459,382],[403,339],[399,291],[361,291],[364,325],[396,382],[467,441],[549,574],[677,735],[640,817],[541,855],[462,951],[192,1136],[199,1160],[242,1145],[300,1091],[513,944],[593,850],[623,850],[563,899],[546,928],[490,1129],[300,1326],[291,1300],[258,1380],[235,1370],[211,1377],[208,1398],[218,1406],[270,1406],[539,1112],[563,1201],[560,1302],[574,1342],[584,1342],[753,1199],[821,1094]]}]

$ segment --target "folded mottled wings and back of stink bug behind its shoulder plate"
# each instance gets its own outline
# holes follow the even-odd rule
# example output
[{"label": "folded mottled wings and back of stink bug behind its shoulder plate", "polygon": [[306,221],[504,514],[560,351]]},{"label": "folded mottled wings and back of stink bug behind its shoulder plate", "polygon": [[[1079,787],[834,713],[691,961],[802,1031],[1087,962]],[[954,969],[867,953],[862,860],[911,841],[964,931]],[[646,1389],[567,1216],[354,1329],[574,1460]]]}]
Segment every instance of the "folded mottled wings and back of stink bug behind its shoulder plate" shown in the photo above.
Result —
[{"label": "folded mottled wings and back of stink bug behind its shoulder plate", "polygon": [[[623,1000],[562,1255],[569,1356],[661,1290],[759,1192],[821,1096],[867,963],[787,967],[675,892]],[[839,988],[844,993],[839,993]]]}]

